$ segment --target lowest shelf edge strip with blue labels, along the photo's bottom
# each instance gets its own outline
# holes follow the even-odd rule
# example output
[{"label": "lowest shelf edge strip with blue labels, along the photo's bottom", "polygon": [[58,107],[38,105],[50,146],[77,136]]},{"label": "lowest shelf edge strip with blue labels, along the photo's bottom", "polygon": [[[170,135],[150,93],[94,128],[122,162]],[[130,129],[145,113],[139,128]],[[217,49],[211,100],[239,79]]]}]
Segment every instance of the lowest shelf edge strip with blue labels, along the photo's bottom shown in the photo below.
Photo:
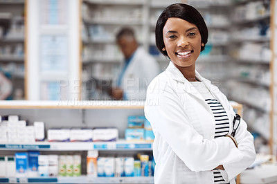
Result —
[{"label": "lowest shelf edge strip with blue labels, along the photo's bottom", "polygon": [[0,178],[0,183],[154,183],[153,177],[37,177]]}]

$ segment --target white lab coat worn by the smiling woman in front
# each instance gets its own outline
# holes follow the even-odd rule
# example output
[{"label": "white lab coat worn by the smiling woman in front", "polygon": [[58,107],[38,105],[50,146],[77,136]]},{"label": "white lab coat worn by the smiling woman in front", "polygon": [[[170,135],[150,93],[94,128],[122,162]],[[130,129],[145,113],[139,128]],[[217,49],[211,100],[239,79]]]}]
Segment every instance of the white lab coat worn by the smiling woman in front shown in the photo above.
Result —
[{"label": "white lab coat worn by the smiling woman in front", "polygon": [[[235,116],[233,108],[217,86],[195,72],[197,79],[224,107],[230,122],[230,135]],[[215,139],[215,118],[210,107],[172,62],[150,83],[145,116],[155,135],[155,183],[214,183],[212,170],[223,165],[225,171],[220,172],[224,180],[233,184],[234,177],[255,160],[253,136],[247,131],[246,122],[241,120],[236,131],[238,149],[231,138]]]}]

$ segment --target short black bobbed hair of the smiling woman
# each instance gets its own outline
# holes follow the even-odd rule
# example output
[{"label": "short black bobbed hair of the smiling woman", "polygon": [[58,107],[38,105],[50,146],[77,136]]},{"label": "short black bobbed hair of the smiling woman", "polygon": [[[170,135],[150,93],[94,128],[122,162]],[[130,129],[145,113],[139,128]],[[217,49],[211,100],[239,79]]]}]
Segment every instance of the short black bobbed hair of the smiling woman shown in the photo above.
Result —
[{"label": "short black bobbed hair of the smiling woman", "polygon": [[[174,3],[163,10],[156,24],[156,46],[163,55],[168,56],[166,50],[162,50],[163,47],[165,47],[163,42],[163,27],[166,25],[166,21],[170,17],[177,17],[188,21],[191,24],[195,24],[201,35],[201,42],[206,45],[208,42],[208,28],[202,15],[195,8],[193,8],[193,6],[189,6],[184,3]],[[204,50],[204,48],[205,46],[201,46],[201,51]]]}]

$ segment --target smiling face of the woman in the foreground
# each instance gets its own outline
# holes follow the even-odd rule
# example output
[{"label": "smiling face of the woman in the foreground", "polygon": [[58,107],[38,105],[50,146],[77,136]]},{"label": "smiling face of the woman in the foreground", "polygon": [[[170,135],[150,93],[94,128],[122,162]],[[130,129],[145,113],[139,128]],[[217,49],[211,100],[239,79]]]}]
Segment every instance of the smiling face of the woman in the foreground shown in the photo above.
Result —
[{"label": "smiling face of the woman in the foreground", "polygon": [[201,35],[195,24],[177,17],[169,18],[163,27],[163,42],[177,68],[195,66],[201,52]]}]

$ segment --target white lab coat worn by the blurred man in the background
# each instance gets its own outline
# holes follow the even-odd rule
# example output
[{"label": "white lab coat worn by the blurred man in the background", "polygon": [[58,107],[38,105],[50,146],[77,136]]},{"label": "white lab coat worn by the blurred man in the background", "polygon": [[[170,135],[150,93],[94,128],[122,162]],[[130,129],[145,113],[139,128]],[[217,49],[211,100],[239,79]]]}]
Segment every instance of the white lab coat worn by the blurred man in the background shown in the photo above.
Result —
[{"label": "white lab coat worn by the blurred man in the background", "polygon": [[159,73],[154,57],[142,47],[137,48],[120,82],[125,100],[145,100],[148,85]]}]

